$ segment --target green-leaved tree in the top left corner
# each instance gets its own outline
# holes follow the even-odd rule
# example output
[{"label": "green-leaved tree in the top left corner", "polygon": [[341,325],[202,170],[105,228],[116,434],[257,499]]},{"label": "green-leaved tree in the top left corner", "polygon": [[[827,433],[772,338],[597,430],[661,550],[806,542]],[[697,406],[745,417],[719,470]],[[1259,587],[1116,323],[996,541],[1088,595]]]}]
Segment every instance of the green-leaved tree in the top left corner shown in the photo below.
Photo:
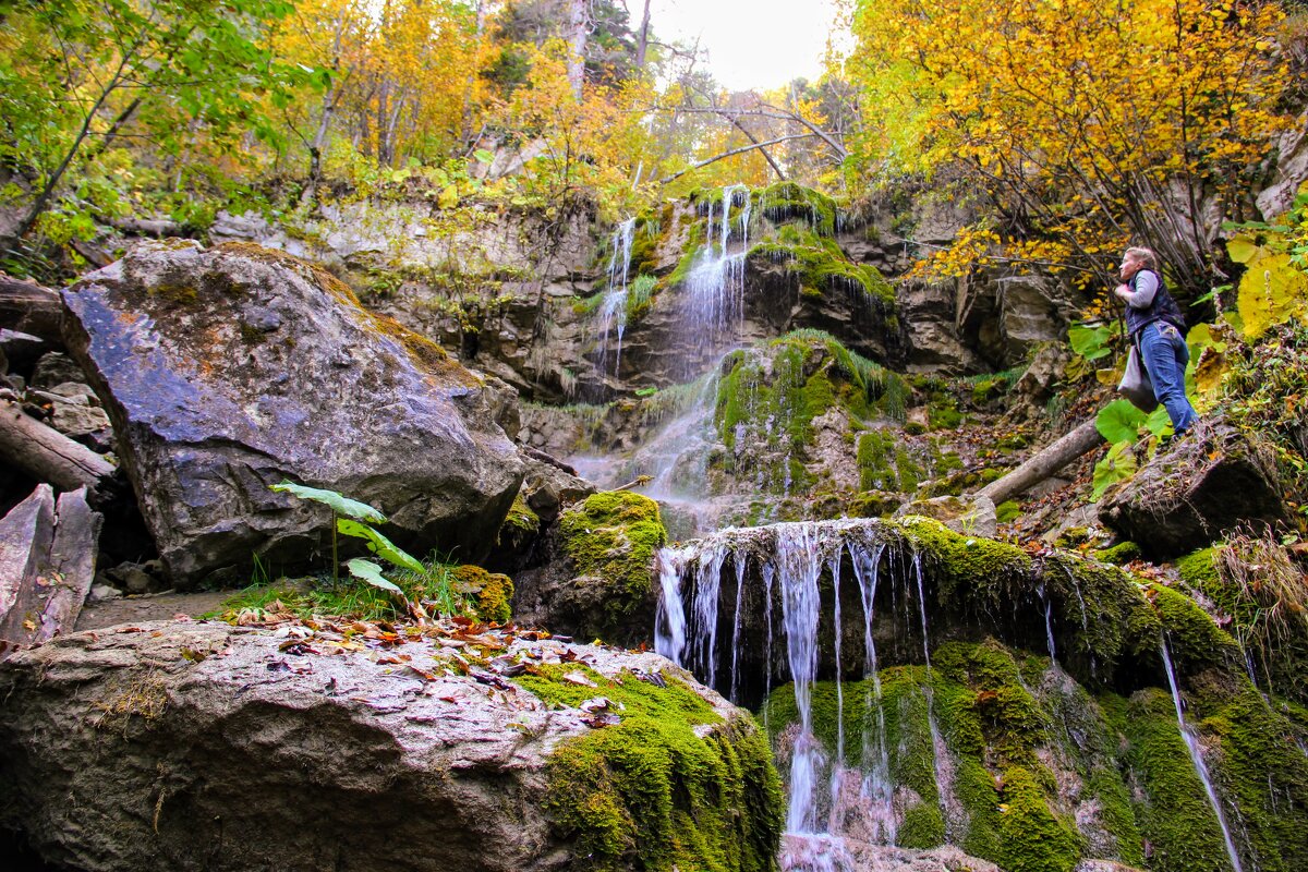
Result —
[{"label": "green-leaved tree in the top left corner", "polygon": [[284,95],[307,75],[276,63],[264,42],[290,9],[284,0],[0,3],[0,157],[34,192],[13,239],[35,226],[90,143],[99,153],[135,119],[173,153],[198,126],[215,139],[247,129],[276,139],[254,99]]}]

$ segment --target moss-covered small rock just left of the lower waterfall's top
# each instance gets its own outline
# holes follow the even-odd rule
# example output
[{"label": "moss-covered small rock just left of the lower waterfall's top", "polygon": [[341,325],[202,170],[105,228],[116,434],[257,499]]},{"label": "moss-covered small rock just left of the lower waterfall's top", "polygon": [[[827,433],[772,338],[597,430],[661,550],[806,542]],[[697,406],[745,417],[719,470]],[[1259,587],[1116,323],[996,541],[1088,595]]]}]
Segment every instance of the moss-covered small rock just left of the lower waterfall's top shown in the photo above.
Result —
[{"label": "moss-covered small rock just left of the lower waterfall's top", "polygon": [[577,574],[602,588],[600,613],[579,631],[615,638],[651,596],[654,554],[667,544],[658,503],[629,490],[591,494],[560,515],[559,536]]}]

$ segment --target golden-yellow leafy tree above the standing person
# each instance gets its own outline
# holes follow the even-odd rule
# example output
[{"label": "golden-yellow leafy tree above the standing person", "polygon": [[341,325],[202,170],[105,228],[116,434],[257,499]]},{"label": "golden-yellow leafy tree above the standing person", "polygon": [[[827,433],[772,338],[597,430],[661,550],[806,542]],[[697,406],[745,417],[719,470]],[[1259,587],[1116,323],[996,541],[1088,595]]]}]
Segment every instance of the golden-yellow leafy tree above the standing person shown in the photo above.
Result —
[{"label": "golden-yellow leafy tree above the standing person", "polygon": [[1197,297],[1220,280],[1205,212],[1240,216],[1284,129],[1274,3],[863,0],[857,156],[959,174],[985,221],[937,265],[1099,268],[1148,244]]}]

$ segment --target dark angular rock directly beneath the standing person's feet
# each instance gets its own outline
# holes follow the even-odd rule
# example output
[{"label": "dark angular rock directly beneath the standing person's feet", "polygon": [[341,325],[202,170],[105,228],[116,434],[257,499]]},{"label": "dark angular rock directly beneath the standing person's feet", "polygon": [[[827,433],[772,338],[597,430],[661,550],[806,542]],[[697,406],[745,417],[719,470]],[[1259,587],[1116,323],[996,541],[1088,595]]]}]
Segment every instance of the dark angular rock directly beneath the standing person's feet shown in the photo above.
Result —
[{"label": "dark angular rock directly beneath the standing person's feet", "polygon": [[1099,503],[1099,519],[1154,557],[1202,548],[1240,524],[1284,520],[1277,458],[1261,438],[1201,421]]}]

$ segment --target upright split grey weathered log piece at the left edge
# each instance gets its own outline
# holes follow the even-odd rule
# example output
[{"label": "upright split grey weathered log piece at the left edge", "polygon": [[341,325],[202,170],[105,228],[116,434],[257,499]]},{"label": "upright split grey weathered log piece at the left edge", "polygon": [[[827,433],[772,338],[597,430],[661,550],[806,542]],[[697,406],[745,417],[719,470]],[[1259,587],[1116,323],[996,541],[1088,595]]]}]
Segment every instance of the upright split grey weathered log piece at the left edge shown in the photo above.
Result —
[{"label": "upright split grey weathered log piece at the left edge", "polygon": [[0,654],[77,624],[95,577],[102,516],[86,490],[42,484],[0,519]]}]

